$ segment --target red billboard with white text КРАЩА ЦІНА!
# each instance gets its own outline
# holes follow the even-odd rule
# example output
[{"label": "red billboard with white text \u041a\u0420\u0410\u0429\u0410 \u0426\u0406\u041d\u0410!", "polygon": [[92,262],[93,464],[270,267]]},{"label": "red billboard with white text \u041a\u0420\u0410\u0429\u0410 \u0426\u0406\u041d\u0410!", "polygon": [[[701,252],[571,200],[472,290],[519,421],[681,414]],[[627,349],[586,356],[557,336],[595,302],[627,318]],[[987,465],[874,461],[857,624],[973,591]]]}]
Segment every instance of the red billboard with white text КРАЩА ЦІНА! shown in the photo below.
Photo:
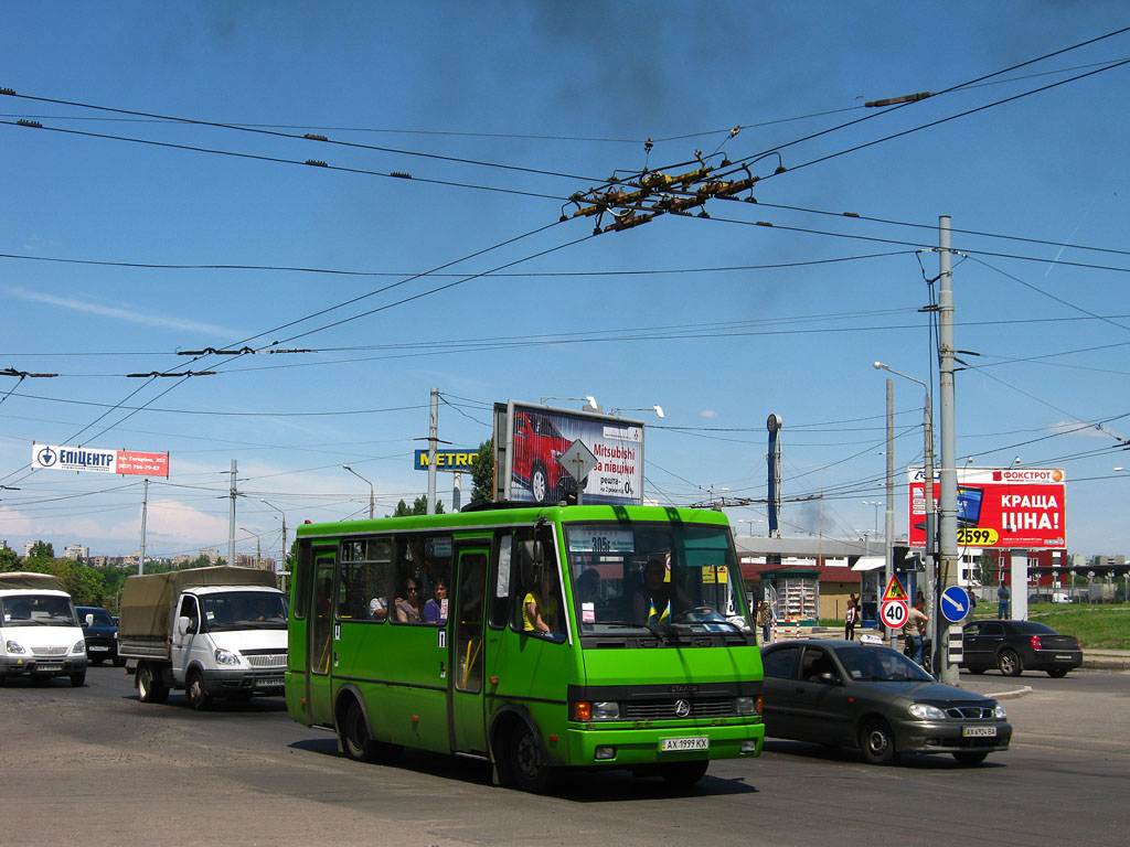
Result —
[{"label": "red billboard with white text \u041a\u0420\u0410\u0429\u0410 \u0426\u0406\u041d\u0410!", "polygon": [[[938,508],[939,474],[933,504]],[[925,545],[925,473],[907,471],[911,547]],[[960,468],[957,543],[1015,550],[1067,547],[1063,471],[1058,468]]]}]

